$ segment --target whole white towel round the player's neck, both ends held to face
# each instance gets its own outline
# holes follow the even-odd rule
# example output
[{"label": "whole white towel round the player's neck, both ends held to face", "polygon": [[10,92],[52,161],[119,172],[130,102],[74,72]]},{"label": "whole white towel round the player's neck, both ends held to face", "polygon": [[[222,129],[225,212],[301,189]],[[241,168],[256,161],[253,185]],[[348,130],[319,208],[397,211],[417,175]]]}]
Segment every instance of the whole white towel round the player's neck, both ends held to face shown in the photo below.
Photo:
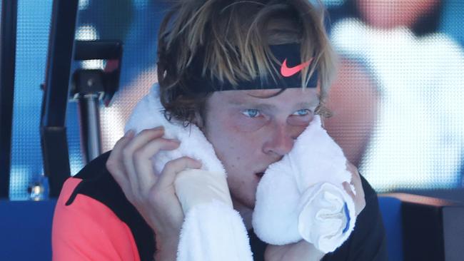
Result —
[{"label": "whole white towel round the player's neck, both ends held to face", "polygon": [[[226,171],[213,146],[197,126],[166,120],[158,88],[154,85],[138,102],[125,131],[164,126],[165,138],[181,141],[178,149],[153,157],[158,173],[169,160],[182,156],[202,163],[201,170],[179,173],[174,184],[185,215],[177,260],[253,260],[246,227],[233,210]],[[346,158],[316,117],[291,153],[263,175],[253,213],[256,235],[273,245],[303,239],[322,252],[335,250],[355,222],[354,203],[343,190],[343,181],[350,181]]]}]

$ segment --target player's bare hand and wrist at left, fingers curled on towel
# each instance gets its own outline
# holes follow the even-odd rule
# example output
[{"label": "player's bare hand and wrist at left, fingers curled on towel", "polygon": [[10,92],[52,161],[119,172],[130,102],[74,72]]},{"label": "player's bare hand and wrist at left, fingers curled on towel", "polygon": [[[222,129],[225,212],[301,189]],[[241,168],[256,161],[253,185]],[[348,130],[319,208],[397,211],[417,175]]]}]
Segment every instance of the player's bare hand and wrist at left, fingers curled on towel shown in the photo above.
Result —
[{"label": "player's bare hand and wrist at left, fingers curled on towel", "polygon": [[135,137],[133,132],[126,133],[111,151],[106,168],[155,232],[156,260],[175,260],[183,212],[173,182],[177,173],[186,168],[201,168],[201,163],[178,158],[166,163],[161,173],[155,173],[153,155],[160,150],[174,150],[180,144],[178,140],[162,138],[163,134],[162,127],[141,131]]}]

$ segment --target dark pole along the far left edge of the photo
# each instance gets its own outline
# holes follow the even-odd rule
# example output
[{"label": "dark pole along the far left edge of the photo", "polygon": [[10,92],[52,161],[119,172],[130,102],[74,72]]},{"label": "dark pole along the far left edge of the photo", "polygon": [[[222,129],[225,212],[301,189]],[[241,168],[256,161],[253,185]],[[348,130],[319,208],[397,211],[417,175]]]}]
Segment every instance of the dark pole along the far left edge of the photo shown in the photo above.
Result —
[{"label": "dark pole along the far left edge of the photo", "polygon": [[11,123],[16,66],[17,0],[1,1],[0,29],[0,198],[9,198]]}]

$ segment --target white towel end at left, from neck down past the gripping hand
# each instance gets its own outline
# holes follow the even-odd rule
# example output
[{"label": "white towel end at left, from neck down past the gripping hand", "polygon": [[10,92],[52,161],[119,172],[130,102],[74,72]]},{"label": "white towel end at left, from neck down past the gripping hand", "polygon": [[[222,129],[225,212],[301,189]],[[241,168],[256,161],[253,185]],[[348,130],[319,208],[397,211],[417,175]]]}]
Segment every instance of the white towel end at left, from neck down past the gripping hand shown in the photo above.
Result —
[{"label": "white towel end at left, from neck down past the gripping hand", "polygon": [[201,170],[178,173],[175,188],[185,219],[181,228],[177,260],[179,261],[248,261],[253,260],[248,234],[240,214],[233,209],[226,171],[216,157],[213,146],[197,126],[187,128],[166,120],[158,85],[151,88],[134,108],[125,131],[136,133],[146,128],[164,126],[165,138],[176,138],[176,150],[161,151],[153,157],[153,166],[161,173],[164,165],[182,156],[200,160]]}]

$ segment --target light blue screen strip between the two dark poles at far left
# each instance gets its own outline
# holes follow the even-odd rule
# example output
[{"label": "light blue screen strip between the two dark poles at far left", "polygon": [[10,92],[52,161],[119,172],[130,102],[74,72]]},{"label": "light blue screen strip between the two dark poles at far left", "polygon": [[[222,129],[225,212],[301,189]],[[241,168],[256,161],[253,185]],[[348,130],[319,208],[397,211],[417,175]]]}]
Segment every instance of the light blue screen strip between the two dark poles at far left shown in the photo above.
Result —
[{"label": "light blue screen strip between the two dark poles at far left", "polygon": [[49,43],[51,0],[18,1],[10,198],[26,199],[42,173],[40,108]]}]

